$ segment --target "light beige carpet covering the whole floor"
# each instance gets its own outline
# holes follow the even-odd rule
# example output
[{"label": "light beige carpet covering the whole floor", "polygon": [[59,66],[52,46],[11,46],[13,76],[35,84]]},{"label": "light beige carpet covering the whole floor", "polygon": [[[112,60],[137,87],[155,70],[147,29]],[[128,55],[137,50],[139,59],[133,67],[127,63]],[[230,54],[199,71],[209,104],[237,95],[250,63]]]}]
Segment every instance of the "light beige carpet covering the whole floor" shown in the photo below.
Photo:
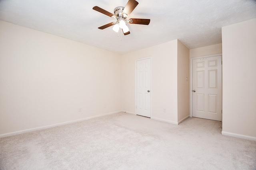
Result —
[{"label": "light beige carpet covering the whole floor", "polygon": [[256,142],[219,126],[117,113],[0,138],[0,170],[256,170]]}]

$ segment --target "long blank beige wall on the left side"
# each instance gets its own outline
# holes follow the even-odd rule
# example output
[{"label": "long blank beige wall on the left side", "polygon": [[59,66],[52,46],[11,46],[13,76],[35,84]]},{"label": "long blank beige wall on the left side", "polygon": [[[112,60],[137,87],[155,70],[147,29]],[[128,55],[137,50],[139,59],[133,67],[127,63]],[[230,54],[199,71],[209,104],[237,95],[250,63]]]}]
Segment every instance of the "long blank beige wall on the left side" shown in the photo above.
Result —
[{"label": "long blank beige wall on the left side", "polygon": [[0,21],[0,135],[122,110],[121,67],[116,53]]}]

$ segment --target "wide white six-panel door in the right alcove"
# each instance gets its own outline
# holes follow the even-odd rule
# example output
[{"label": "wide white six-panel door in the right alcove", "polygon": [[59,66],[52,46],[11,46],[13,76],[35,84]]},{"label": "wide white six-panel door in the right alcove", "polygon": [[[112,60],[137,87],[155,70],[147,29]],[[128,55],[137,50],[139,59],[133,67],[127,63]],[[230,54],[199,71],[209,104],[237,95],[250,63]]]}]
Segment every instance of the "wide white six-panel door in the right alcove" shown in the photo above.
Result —
[{"label": "wide white six-panel door in the right alcove", "polygon": [[193,60],[193,117],[222,120],[221,56]]}]

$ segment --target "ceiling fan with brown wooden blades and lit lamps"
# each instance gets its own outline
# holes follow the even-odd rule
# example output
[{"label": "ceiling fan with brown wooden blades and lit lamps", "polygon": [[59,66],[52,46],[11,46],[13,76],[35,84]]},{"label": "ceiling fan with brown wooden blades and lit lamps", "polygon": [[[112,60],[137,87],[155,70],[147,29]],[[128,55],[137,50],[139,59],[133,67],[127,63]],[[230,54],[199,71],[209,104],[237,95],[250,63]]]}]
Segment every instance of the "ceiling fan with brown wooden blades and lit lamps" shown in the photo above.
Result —
[{"label": "ceiling fan with brown wooden blades and lit lamps", "polygon": [[128,26],[126,25],[126,21],[128,23],[132,23],[132,24],[148,25],[150,23],[150,19],[140,19],[140,18],[126,19],[131,14],[131,12],[134,10],[134,8],[136,8],[136,6],[138,4],[139,3],[136,0],[128,0],[125,7],[122,7],[122,6],[116,7],[114,9],[114,14],[112,14],[98,6],[94,6],[92,8],[93,10],[101,12],[102,14],[110,16],[111,18],[116,18],[116,22],[110,22],[106,25],[98,27],[98,29],[105,29],[107,27],[114,25],[114,27],[113,27],[114,31],[118,32],[119,28],[120,28],[120,29],[122,29],[124,35],[128,35],[128,34],[130,34],[130,31],[129,31]]}]

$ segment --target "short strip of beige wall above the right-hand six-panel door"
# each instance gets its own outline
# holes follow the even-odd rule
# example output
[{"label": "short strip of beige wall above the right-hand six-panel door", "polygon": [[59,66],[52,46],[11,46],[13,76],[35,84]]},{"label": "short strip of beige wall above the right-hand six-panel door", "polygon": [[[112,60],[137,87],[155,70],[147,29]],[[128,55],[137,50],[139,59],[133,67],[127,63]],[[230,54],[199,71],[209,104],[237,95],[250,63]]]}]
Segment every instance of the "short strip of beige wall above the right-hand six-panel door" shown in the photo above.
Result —
[{"label": "short strip of beige wall above the right-hand six-panel door", "polygon": [[222,53],[222,43],[190,49],[190,58]]}]

